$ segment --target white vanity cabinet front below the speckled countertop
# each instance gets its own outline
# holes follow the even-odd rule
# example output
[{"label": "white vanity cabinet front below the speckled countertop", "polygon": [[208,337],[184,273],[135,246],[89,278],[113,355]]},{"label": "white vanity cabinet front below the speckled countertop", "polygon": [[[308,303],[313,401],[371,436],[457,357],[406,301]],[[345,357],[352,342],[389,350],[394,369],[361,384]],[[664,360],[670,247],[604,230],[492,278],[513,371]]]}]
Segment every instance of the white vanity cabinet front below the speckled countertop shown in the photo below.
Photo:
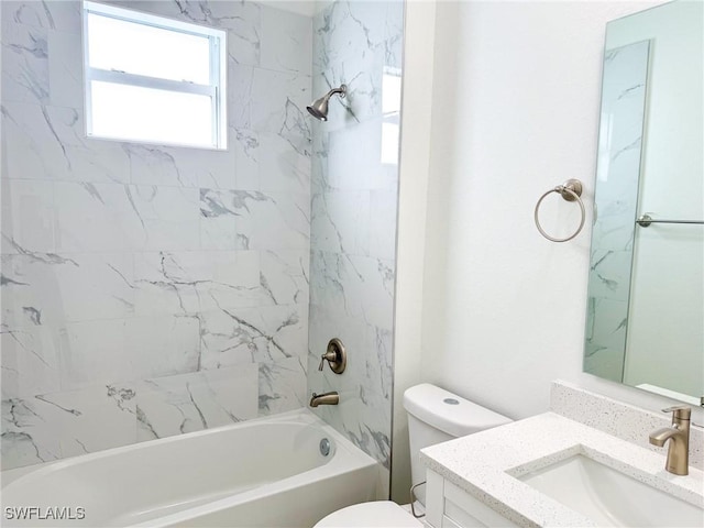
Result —
[{"label": "white vanity cabinet front below the speckled countertop", "polygon": [[517,527],[501,514],[427,470],[426,521],[432,528]]}]

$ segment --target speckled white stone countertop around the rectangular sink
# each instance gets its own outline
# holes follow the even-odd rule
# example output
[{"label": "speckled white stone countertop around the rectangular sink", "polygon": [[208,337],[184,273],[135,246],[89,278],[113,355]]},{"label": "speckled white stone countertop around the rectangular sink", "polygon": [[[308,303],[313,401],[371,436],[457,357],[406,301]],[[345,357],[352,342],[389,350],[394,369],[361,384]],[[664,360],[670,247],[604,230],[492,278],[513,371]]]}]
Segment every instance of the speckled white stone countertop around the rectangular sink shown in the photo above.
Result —
[{"label": "speckled white stone countertop around the rectangular sink", "polygon": [[517,477],[575,454],[704,508],[704,473],[664,471],[663,454],[554,413],[546,413],[421,450],[426,466],[519,526],[595,526]]}]

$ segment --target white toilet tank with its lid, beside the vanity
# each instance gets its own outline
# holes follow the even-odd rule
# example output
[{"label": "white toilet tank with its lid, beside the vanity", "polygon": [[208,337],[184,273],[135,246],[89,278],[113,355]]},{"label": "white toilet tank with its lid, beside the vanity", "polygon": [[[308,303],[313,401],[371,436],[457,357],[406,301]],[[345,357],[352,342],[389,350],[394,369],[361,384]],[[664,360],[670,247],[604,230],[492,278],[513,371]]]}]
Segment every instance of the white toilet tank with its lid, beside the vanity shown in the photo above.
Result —
[{"label": "white toilet tank with its lid, beside the vanity", "polygon": [[[426,480],[425,468],[419,460],[422,448],[513,421],[510,418],[429,383],[407,389],[404,393],[404,408],[408,413],[410,470],[414,485]],[[418,490],[416,496],[425,505],[422,487]]]}]

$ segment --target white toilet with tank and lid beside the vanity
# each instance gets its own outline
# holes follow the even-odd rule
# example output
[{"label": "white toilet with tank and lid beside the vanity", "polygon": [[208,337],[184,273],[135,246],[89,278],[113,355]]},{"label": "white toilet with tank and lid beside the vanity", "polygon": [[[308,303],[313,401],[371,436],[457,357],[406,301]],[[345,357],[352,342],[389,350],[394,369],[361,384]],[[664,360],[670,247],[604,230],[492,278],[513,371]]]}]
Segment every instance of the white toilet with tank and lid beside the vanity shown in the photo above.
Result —
[{"label": "white toilet with tank and lid beside the vanity", "polygon": [[[410,469],[414,485],[426,480],[425,468],[418,458],[422,448],[512,421],[510,418],[428,383],[416,385],[406,391],[404,407],[408,413]],[[419,486],[416,490],[418,503],[424,508],[425,486]],[[418,528],[422,526],[406,508],[392,501],[377,501],[355,504],[333,512],[322,518],[314,528]]]}]

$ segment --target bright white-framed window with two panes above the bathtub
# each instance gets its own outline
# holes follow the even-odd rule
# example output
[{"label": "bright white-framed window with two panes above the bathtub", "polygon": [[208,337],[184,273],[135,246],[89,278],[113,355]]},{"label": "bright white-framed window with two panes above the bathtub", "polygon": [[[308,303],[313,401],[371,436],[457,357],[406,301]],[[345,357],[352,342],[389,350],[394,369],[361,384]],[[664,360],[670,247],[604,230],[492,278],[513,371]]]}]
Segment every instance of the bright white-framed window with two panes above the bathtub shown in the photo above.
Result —
[{"label": "bright white-framed window with two panes above the bathtub", "polygon": [[84,2],[89,136],[227,147],[226,32]]}]

